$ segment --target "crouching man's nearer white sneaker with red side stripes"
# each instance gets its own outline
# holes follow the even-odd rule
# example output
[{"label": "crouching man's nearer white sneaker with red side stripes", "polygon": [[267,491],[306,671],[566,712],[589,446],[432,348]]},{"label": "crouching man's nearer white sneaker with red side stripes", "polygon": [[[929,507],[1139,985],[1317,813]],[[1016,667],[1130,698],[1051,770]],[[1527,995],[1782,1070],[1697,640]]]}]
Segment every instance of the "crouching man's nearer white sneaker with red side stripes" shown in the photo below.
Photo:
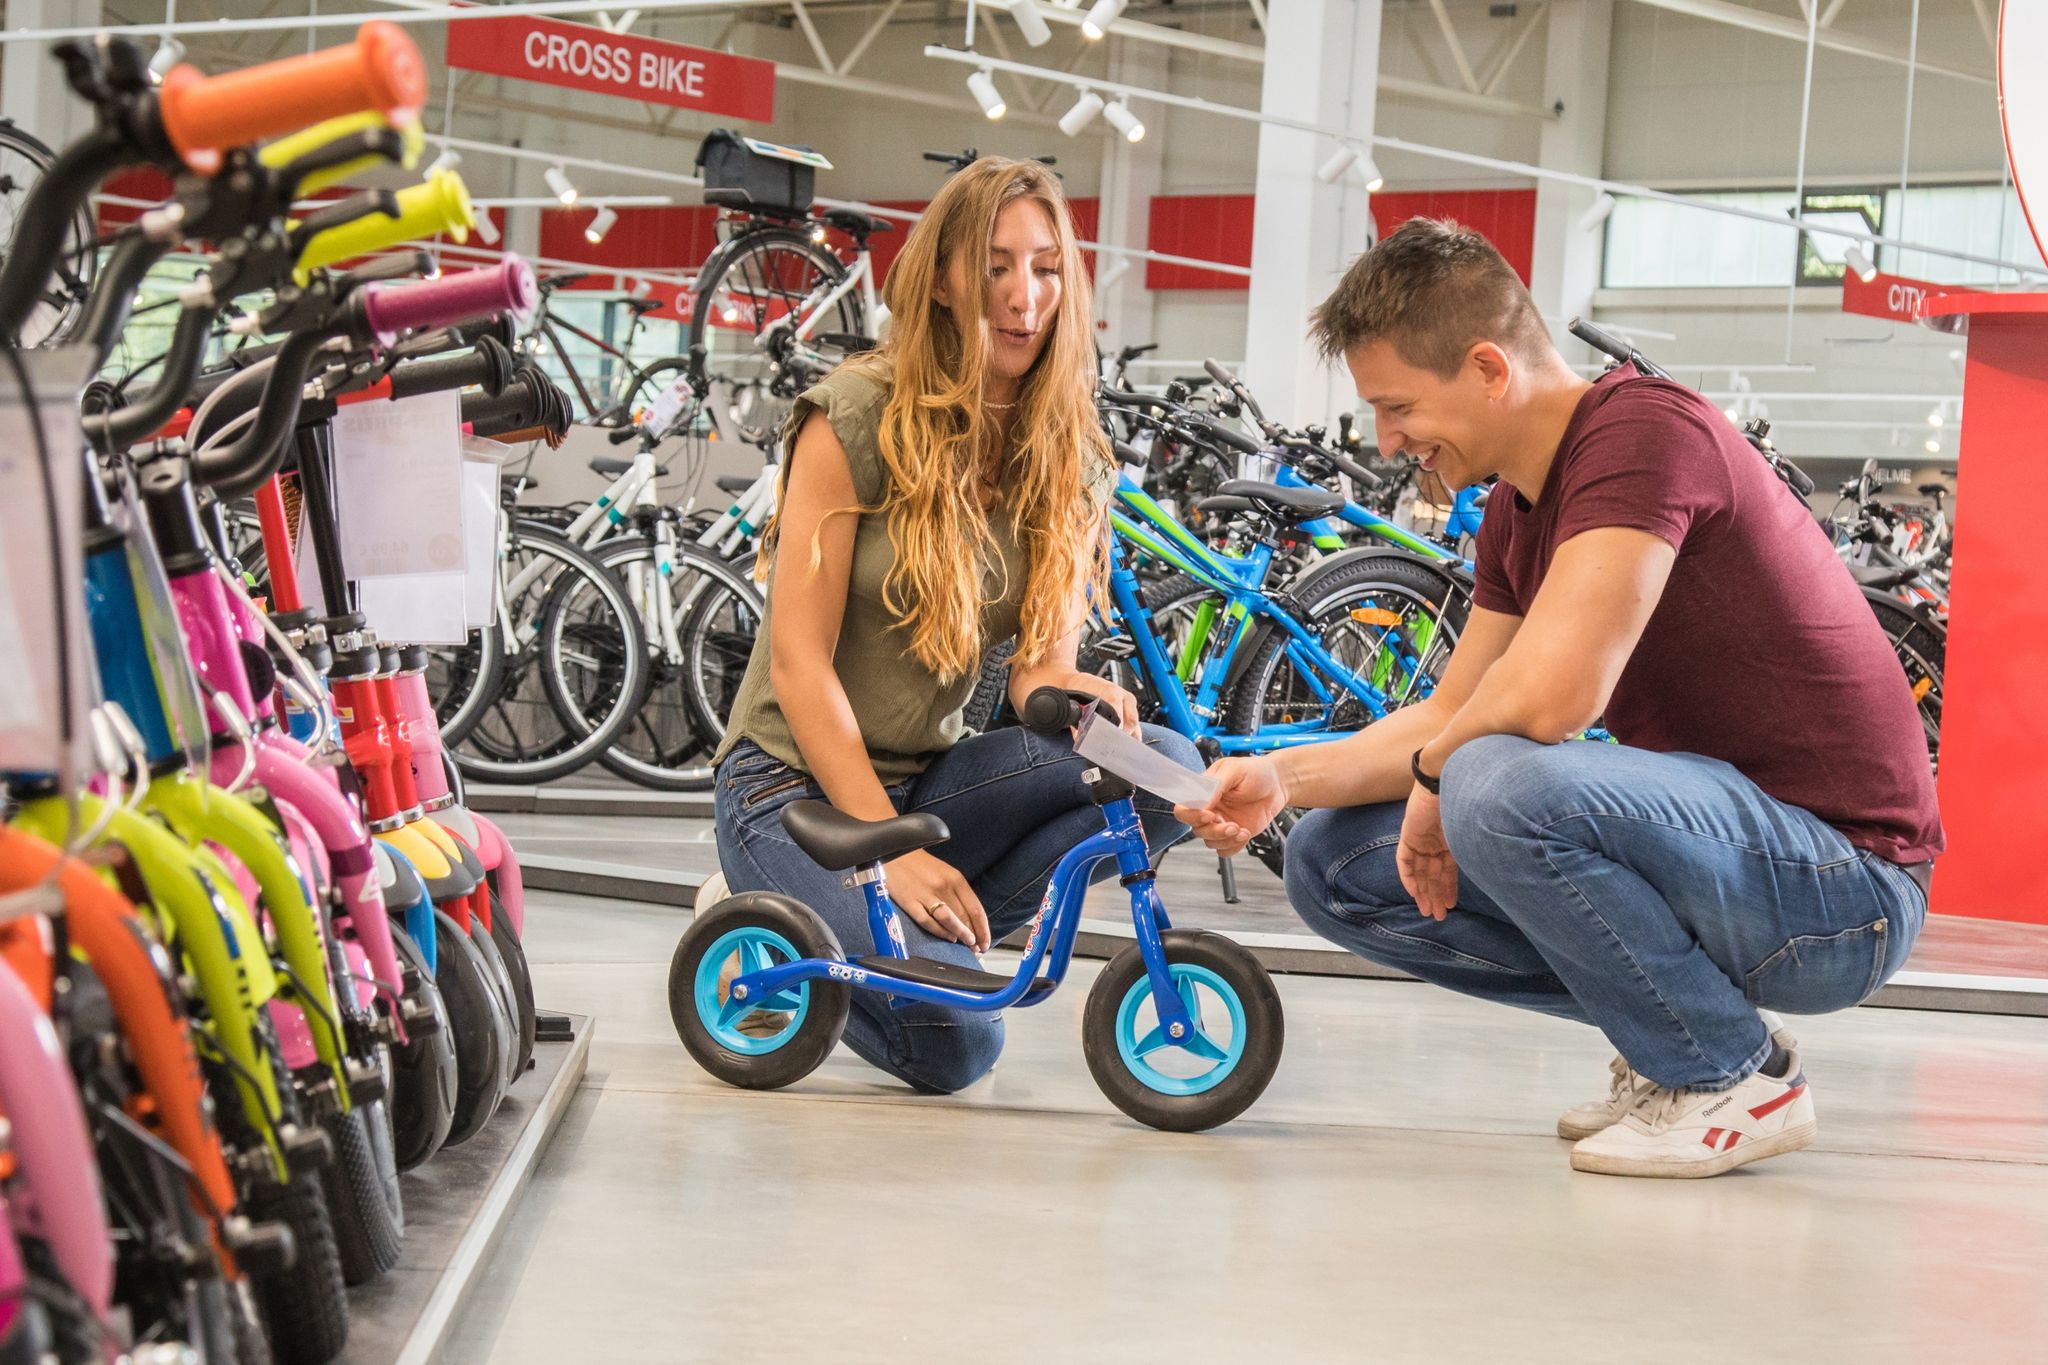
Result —
[{"label": "crouching man's nearer white sneaker with red side stripes", "polygon": [[1798,1054],[1784,1076],[1761,1070],[1733,1091],[1636,1093],[1634,1107],[1606,1132],[1571,1148],[1573,1171],[1696,1179],[1796,1152],[1819,1121]]}]

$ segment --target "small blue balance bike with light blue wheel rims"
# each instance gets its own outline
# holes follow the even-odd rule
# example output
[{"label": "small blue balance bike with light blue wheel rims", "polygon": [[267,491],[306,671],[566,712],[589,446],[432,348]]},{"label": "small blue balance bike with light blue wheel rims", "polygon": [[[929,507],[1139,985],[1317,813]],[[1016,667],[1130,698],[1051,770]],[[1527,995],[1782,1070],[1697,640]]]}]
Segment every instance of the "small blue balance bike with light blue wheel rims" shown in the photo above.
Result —
[{"label": "small blue balance bike with light blue wheel rims", "polygon": [[[1022,718],[1057,737],[1079,724],[1087,706],[1100,704],[1085,692],[1038,688]],[[1100,767],[1090,767],[1085,782],[1104,829],[1059,860],[1014,976],[911,958],[903,948],[883,864],[944,843],[950,833],[936,814],[856,821],[815,800],[784,806],[782,829],[797,847],[860,886],[881,952],[848,958],[815,911],[776,892],[721,900],[690,923],[668,972],[668,1009],[690,1056],[719,1081],[768,1091],[825,1060],[854,990],[987,1013],[1038,1005],[1073,960],[1087,874],[1112,857],[1130,892],[1137,943],[1116,954],[1087,993],[1087,1070],[1110,1103],[1153,1128],[1198,1132],[1243,1113],[1280,1064],[1280,995],[1231,939],[1167,925],[1135,788]]]}]

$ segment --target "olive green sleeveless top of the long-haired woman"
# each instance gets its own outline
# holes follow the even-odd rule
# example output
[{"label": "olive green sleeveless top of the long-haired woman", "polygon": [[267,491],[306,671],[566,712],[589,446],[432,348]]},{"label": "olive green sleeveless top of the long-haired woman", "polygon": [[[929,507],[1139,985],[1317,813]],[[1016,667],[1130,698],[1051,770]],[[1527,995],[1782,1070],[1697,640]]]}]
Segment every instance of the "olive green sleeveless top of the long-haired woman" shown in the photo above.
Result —
[{"label": "olive green sleeveless top of the long-haired woman", "polygon": [[[883,460],[879,440],[887,399],[887,377],[872,375],[864,366],[840,368],[797,399],[784,428],[782,458],[795,458],[803,422],[813,411],[825,413],[834,436],[846,448],[860,505],[879,508],[889,491],[889,465]],[[1108,501],[1114,487],[1116,471],[1108,465],[1090,475],[1090,491],[1098,503]],[[784,544],[782,553],[803,555],[805,546]],[[780,555],[776,559],[780,561]],[[874,763],[874,776],[883,784],[922,774],[934,757],[961,741],[967,733],[963,712],[977,681],[975,673],[944,681],[911,655],[903,620],[883,602],[883,581],[893,565],[895,546],[889,544],[887,514],[862,512],[854,532],[852,575],[846,583],[846,616],[831,667],[840,675],[868,761]],[[770,567],[770,593],[774,573]],[[1016,526],[1008,508],[997,503],[989,514],[989,540],[981,546],[981,589],[985,598],[1001,596],[981,608],[981,653],[1016,636],[1028,575],[1030,563],[1018,544]],[[752,739],[791,767],[811,772],[768,677],[768,641],[770,612],[762,612],[748,673],[725,720],[725,743],[713,761],[723,761],[733,745]]]}]

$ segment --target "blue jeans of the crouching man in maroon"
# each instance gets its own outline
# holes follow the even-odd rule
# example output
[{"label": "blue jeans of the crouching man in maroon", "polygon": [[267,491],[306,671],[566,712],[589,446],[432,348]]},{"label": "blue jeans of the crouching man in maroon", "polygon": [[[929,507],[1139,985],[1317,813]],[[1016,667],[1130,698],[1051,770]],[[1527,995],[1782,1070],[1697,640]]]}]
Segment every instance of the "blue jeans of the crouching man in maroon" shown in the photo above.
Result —
[{"label": "blue jeans of the crouching man in maroon", "polygon": [[1286,886],[1311,929],[1485,1001],[1593,1023],[1663,1087],[1769,1058],[1757,1007],[1847,1009],[1905,964],[1919,884],[1718,759],[1491,735],[1444,767],[1458,907],[1401,886],[1405,802],[1313,810]]}]

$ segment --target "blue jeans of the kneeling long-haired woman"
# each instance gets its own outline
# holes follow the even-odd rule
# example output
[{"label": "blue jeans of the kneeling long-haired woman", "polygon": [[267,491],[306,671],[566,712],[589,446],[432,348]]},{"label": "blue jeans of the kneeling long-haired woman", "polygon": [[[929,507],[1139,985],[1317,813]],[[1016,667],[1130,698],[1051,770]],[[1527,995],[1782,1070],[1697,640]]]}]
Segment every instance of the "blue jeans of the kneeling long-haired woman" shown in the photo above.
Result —
[{"label": "blue jeans of the kneeling long-haired woman", "polygon": [[[1145,743],[1196,772],[1202,759],[1194,741],[1159,726],[1145,726]],[[1087,763],[1065,737],[1044,739],[1024,729],[971,735],[942,753],[928,769],[891,788],[897,812],[930,810],[946,821],[952,839],[932,849],[958,868],[989,915],[995,941],[1038,913],[1038,900],[1061,855],[1102,831],[1102,812],[1081,784]],[[793,800],[823,800],[805,778],[752,741],[741,741],[719,765],[715,814],[719,866],[733,892],[778,890],[817,911],[848,956],[877,952],[868,933],[868,907],[858,890],[840,884],[782,831],[782,808]],[[1137,798],[1139,823],[1153,864],[1188,835],[1171,802],[1149,792]],[[1116,864],[1096,866],[1094,880],[1116,876]],[[913,958],[979,966],[973,950],[936,939],[897,911],[903,941]],[[942,1005],[901,1003],[872,990],[854,990],[846,1017],[846,1046],[922,1091],[958,1091],[979,1081],[1004,1050],[999,1013],[973,1013]]]}]

